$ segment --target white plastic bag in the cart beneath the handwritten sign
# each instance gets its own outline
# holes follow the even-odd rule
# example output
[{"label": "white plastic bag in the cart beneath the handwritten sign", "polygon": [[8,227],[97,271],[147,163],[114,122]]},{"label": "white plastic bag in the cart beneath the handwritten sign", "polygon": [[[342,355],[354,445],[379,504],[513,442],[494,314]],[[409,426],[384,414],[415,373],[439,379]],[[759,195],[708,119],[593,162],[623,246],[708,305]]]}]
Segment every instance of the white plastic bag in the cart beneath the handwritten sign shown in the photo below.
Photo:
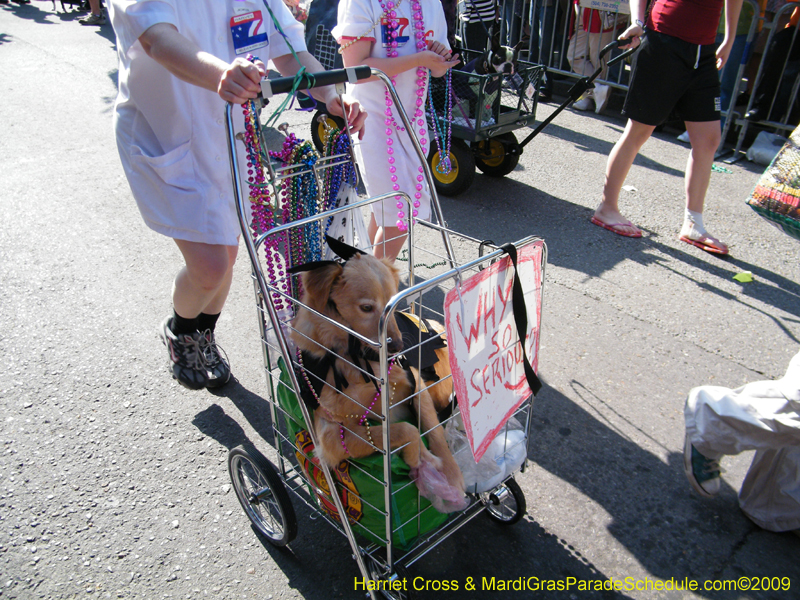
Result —
[{"label": "white plastic bag in the cart beneath the handwritten sign", "polygon": [[525,462],[527,444],[522,424],[511,417],[500,430],[486,453],[476,463],[460,418],[450,420],[445,428],[450,451],[464,476],[466,490],[472,494],[488,492],[500,485]]}]

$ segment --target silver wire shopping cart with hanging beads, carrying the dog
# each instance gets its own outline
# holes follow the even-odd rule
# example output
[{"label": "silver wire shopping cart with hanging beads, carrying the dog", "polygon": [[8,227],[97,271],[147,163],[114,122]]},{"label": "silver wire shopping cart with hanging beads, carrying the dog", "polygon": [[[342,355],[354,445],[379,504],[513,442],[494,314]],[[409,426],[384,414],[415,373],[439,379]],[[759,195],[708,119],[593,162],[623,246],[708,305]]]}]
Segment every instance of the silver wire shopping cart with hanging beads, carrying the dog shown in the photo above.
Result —
[{"label": "silver wire shopping cart with hanging beads, carrying the dog", "polygon": [[[342,130],[325,130],[326,152],[322,155],[316,153],[311,143],[300,141],[291,134],[273,144],[276,150],[269,151],[267,137],[274,132],[265,132],[260,114],[274,94],[334,83],[341,94],[344,81],[370,76],[379,78],[387,86],[398,106],[401,121],[410,131],[408,117],[400,108],[389,78],[367,67],[264,80],[262,94],[245,106],[244,132],[238,132],[234,127],[233,111],[239,107],[227,106],[234,193],[252,266],[268,387],[265,399],[271,417],[271,435],[267,436],[271,437],[267,440],[271,447],[264,452],[253,445],[232,449],[228,456],[228,469],[233,489],[255,532],[270,544],[285,546],[297,535],[298,523],[292,502],[300,501],[347,539],[371,598],[378,595],[409,598],[413,596],[413,590],[402,589],[394,582],[402,581],[407,568],[471,519],[486,513],[498,523],[513,524],[524,515],[525,497],[514,477],[527,466],[533,394],[528,393],[513,406],[509,412],[511,418],[493,432],[490,441],[496,451],[491,460],[495,467],[504,465],[499,474],[495,468],[492,481],[476,480],[468,486],[465,506],[452,512],[440,512],[435,503],[420,493],[410,477],[408,465],[400,457],[402,448],[384,450],[372,443],[370,436],[373,454],[342,461],[335,468],[318,460],[315,455],[319,438],[313,413],[301,399],[303,386],[312,387],[311,379],[319,377],[307,368],[293,347],[292,334],[296,333],[293,331],[293,317],[302,306],[298,289],[300,279],[293,267],[325,258],[326,252],[335,249],[332,243],[326,244],[325,235],[333,237],[332,227],[342,222],[345,231],[339,230],[340,237],[352,240],[353,244],[368,244],[368,241],[360,239],[362,234],[353,223],[362,218],[362,210],[384,198],[357,200],[350,196],[346,204],[327,203],[328,198],[343,197],[337,188],[338,183],[344,185],[342,182],[347,182],[353,188],[357,187],[352,140],[346,124]],[[415,144],[415,148],[420,164],[426,165],[419,144]],[[247,157],[246,174],[240,167],[243,151]],[[396,263],[402,267],[400,290],[383,310],[378,339],[366,338],[341,323],[330,321],[331,326],[344,328],[349,336],[374,352],[375,358],[370,360],[374,360],[376,368],[364,371],[364,377],[381,394],[382,406],[390,406],[389,386],[384,384],[389,380],[390,365],[399,359],[398,354],[389,352],[389,318],[402,313],[403,318],[410,320],[444,320],[445,296],[460,295],[464,281],[481,274],[484,269],[494,272],[495,265],[510,260],[507,257],[516,256],[517,252],[533,257],[531,264],[535,267],[535,275],[528,291],[524,292],[527,299],[523,302],[536,308],[524,330],[535,334],[535,344],[538,345],[547,253],[543,240],[530,237],[501,248],[450,231],[442,218],[431,173],[427,168],[423,170],[432,188],[432,211],[436,222],[416,221],[408,227],[405,249]],[[249,194],[245,188],[249,188]],[[308,202],[298,197],[303,193],[308,195],[305,198]],[[404,202],[411,203],[405,192],[400,192],[400,196]],[[301,210],[303,207],[305,212]],[[352,228],[350,237],[348,228]],[[426,269],[424,278],[418,274],[423,268]],[[517,272],[516,269],[511,271]],[[515,282],[519,280],[517,277]],[[437,331],[426,337],[420,334],[410,343],[404,337],[406,343],[402,354],[418,372],[424,368],[425,346],[443,341],[444,334]],[[338,358],[347,360],[347,357]],[[447,378],[439,383],[443,382],[446,383]],[[323,381],[320,383],[329,385]],[[411,401],[409,397],[402,402]],[[391,410],[395,410],[398,404],[395,403]],[[458,399],[451,395],[448,406],[439,413],[442,427],[457,436],[463,428],[461,416]],[[383,439],[391,439],[392,419],[380,411],[371,412],[370,420],[373,428],[380,428]],[[421,428],[419,417],[414,424],[423,438],[430,433]],[[362,441],[368,440],[362,438]],[[456,454],[455,449],[453,452]],[[366,582],[375,584],[367,585]]]}]

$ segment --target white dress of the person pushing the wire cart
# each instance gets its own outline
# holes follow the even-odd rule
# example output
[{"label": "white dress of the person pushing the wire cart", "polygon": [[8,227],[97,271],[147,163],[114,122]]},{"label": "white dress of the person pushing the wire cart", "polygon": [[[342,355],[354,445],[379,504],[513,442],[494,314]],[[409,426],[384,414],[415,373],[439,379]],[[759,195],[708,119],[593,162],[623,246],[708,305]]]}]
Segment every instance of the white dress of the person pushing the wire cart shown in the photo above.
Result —
[{"label": "white dress of the person pushing the wire cart", "polygon": [[[305,50],[303,26],[281,0],[269,6],[295,51]],[[266,63],[289,46],[260,0],[111,0],[109,13],[119,54],[117,147],[145,223],[171,238],[236,246],[225,102],[170,74],[138,40],[170,23],[227,62],[250,53]],[[241,131],[241,108],[233,113]],[[237,152],[244,157],[243,147]]]}]

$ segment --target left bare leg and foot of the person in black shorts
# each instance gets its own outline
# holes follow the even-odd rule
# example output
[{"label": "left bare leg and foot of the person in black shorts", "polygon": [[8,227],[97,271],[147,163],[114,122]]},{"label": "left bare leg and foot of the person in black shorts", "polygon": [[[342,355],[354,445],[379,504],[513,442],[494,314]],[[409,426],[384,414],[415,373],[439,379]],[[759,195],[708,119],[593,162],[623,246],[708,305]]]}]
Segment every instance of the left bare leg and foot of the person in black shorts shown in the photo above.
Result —
[{"label": "left bare leg and foot of the person in black shorts", "polygon": [[641,235],[641,231],[619,212],[619,194],[636,155],[654,129],[653,125],[628,119],[622,137],[608,156],[603,199],[594,213],[594,220],[606,226],[614,226],[613,231],[620,235],[637,237]]}]

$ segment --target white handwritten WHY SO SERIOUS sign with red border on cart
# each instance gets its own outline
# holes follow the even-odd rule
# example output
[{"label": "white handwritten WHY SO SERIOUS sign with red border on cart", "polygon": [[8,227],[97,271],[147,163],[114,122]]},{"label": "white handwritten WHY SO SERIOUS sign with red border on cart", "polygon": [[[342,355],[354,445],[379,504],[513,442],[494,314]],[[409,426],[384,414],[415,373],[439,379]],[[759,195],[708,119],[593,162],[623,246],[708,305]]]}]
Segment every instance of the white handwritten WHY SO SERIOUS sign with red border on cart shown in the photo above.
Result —
[{"label": "white handwritten WHY SO SERIOUS sign with red border on cart", "polygon": [[[534,371],[542,314],[542,252],[536,241],[519,249],[528,326],[525,349]],[[514,267],[509,257],[448,292],[444,302],[450,370],[475,461],[531,394],[512,306]]]}]

